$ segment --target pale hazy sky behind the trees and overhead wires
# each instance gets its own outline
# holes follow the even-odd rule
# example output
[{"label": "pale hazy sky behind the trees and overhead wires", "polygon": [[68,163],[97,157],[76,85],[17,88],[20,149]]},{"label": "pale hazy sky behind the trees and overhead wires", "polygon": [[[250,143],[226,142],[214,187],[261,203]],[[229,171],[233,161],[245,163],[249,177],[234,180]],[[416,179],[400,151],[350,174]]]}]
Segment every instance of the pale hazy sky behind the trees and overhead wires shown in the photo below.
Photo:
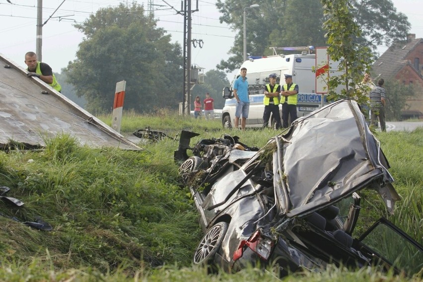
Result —
[{"label": "pale hazy sky behind the trees and overhead wires", "polygon": [[[10,2],[11,3],[10,3]],[[37,0],[0,0],[0,54],[14,61],[23,68],[24,55],[36,51]],[[123,0],[42,0],[43,26],[42,61],[49,64],[53,71],[61,72],[70,61],[76,59],[78,44],[83,34],[73,27],[73,23],[82,23],[99,8],[114,6]],[[129,2],[132,2],[129,1]],[[181,9],[181,0],[138,0],[145,9],[147,3],[154,4],[154,16],[158,27],[168,31],[172,41],[183,45],[184,17],[176,13]],[[220,60],[227,60],[227,54],[233,44],[235,33],[226,24],[219,22],[220,13],[215,7],[215,0],[199,0],[199,10],[192,13],[192,39],[202,40],[192,47],[191,62],[204,71],[215,69]],[[411,23],[410,33],[416,38],[423,37],[423,0],[392,0],[397,11],[408,16]],[[257,0],[260,3],[260,0]],[[172,8],[173,7],[173,8]],[[192,9],[196,1],[192,1]],[[57,11],[55,12],[55,10]],[[259,9],[259,8],[255,8]],[[242,11],[240,11],[242,13]],[[248,13],[247,13],[248,32]],[[379,52],[387,46],[380,46]],[[248,52],[248,50],[247,50]],[[229,80],[233,74],[229,74]]]}]

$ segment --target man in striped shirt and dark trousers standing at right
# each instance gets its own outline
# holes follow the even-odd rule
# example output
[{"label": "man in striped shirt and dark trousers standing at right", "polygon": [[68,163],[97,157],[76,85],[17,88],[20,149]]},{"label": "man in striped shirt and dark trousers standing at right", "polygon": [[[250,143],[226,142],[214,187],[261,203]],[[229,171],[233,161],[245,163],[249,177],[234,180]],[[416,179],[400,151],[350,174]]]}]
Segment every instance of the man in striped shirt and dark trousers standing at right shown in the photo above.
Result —
[{"label": "man in striped shirt and dark trousers standing at right", "polygon": [[380,128],[382,131],[386,131],[385,125],[385,88],[383,88],[383,83],[385,80],[380,78],[377,81],[377,86],[375,89],[370,91],[370,111],[371,111],[371,120],[370,124],[377,126],[377,117],[379,117]]}]

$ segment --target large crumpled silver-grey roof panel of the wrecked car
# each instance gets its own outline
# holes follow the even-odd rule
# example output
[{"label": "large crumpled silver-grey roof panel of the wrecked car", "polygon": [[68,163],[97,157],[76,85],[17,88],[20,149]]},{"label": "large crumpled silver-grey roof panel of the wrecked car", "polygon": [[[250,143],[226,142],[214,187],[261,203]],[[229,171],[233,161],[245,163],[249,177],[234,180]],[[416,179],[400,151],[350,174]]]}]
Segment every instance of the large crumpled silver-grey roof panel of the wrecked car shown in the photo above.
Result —
[{"label": "large crumpled silver-grey roof panel of the wrecked car", "polygon": [[[276,139],[274,139],[276,141]],[[365,124],[357,103],[341,100],[299,118],[280,138],[283,171],[280,212],[288,217],[329,205],[363,187],[374,187],[393,212],[400,197],[379,141]]]}]

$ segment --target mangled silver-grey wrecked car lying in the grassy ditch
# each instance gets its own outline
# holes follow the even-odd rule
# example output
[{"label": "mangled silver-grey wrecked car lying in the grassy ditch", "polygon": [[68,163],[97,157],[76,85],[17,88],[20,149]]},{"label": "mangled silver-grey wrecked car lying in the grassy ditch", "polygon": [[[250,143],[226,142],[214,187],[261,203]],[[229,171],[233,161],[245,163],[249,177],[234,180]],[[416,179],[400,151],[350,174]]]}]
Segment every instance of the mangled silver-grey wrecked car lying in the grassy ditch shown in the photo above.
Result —
[{"label": "mangled silver-grey wrecked car lying in the grassy ditch", "polygon": [[299,118],[260,150],[226,135],[190,147],[197,135],[183,133],[174,156],[205,233],[195,264],[273,266],[280,276],[328,264],[421,271],[422,245],[386,218],[353,237],[362,189],[376,190],[391,213],[400,199],[355,101]]}]

